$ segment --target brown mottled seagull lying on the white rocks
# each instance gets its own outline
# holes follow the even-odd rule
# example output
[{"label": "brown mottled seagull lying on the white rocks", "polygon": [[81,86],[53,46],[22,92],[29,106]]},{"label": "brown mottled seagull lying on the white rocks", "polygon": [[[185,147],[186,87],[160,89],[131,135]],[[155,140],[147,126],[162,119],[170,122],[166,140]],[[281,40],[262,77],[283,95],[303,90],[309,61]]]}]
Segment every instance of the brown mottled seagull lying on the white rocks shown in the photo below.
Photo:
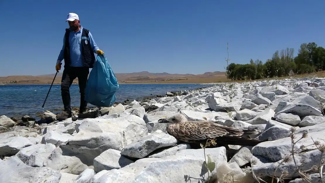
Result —
[{"label": "brown mottled seagull lying on the white rocks", "polygon": [[159,119],[159,123],[170,123],[167,126],[169,135],[182,142],[206,143],[207,139],[214,140],[217,145],[255,146],[261,142],[249,135],[259,134],[259,130],[240,130],[209,121],[188,121],[183,114],[176,114],[169,118]]}]

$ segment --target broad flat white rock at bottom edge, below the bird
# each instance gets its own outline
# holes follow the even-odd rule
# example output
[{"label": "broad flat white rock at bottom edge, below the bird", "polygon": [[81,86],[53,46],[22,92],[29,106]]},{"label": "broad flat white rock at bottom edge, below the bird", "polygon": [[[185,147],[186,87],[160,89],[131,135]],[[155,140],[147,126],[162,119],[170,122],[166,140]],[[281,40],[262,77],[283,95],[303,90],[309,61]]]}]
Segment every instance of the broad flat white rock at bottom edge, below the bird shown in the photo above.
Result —
[{"label": "broad flat white rock at bottom edge, below the bird", "polygon": [[121,169],[108,171],[94,183],[186,182],[184,179],[186,175],[194,178],[201,178],[202,174],[207,175],[207,172],[204,171],[206,169],[202,171],[203,161],[204,158],[201,157],[176,155],[139,159]]}]

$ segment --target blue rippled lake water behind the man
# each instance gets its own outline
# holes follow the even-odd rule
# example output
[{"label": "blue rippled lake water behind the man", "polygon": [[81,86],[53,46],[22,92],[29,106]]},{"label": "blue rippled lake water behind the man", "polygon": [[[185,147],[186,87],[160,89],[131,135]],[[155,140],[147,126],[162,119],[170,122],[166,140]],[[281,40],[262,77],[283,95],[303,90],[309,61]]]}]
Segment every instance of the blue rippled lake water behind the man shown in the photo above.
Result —
[{"label": "blue rippled lake water behind the man", "polygon": [[[150,95],[165,95],[167,91],[192,90],[207,87],[205,84],[121,84],[116,92],[116,101],[141,99]],[[43,112],[42,105],[50,85],[0,85],[0,116],[32,115]],[[79,107],[79,86],[70,88],[71,105]],[[92,105],[88,104],[88,107]],[[53,85],[46,99],[44,110],[62,110],[60,85]]]}]

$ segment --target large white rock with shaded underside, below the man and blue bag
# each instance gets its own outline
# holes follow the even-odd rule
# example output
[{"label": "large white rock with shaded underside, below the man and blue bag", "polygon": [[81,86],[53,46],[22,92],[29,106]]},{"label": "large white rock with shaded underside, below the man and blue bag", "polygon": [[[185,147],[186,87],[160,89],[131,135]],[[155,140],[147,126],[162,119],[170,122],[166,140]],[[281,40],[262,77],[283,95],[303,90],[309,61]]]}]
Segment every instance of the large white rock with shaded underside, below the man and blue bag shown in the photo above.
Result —
[{"label": "large white rock with shaded underside, below the man and blue bag", "polygon": [[115,119],[85,119],[79,126],[79,132],[61,149],[92,165],[94,159],[105,150],[122,150],[147,134],[144,120],[135,115]]}]

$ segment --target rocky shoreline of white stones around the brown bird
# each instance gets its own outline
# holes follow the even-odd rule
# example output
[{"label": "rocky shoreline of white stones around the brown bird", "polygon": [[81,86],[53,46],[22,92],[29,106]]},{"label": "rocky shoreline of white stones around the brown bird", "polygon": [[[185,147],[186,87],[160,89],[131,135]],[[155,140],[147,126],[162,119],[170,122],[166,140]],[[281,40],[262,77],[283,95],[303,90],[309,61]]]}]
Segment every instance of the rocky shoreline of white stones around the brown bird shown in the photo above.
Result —
[{"label": "rocky shoreline of white stones around the brown bird", "polygon": [[[50,111],[36,122],[1,116],[0,182],[325,181],[325,78],[224,83],[155,97],[74,111],[68,119]],[[178,113],[258,129],[251,138],[267,141],[196,148],[158,122]]]}]

